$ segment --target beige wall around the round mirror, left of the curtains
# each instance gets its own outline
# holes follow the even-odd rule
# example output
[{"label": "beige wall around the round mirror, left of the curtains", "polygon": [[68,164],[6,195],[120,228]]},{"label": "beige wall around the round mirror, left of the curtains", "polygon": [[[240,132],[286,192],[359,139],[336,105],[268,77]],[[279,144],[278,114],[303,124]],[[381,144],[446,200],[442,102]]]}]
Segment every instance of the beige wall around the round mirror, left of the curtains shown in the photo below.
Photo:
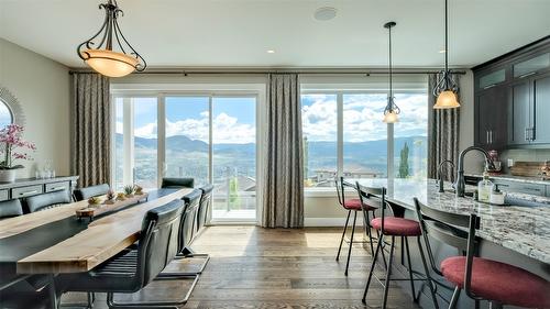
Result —
[{"label": "beige wall around the round mirror, left of the curtains", "polygon": [[57,175],[69,174],[69,75],[59,63],[0,38],[0,85],[15,96],[26,118],[24,137],[36,143],[33,162],[19,177],[34,177],[51,159]]}]

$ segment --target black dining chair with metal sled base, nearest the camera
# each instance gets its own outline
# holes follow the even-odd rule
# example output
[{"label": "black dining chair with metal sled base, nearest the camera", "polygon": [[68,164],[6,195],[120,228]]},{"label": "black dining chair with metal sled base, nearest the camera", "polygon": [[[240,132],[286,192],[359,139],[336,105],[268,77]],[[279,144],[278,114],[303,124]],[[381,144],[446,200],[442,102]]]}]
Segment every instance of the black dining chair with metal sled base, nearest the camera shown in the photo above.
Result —
[{"label": "black dining chair with metal sled base, nearest the camera", "polygon": [[[56,284],[63,291],[107,293],[109,308],[178,308],[187,302],[199,278],[196,274],[158,276],[173,261],[178,250],[179,223],[184,202],[174,200],[145,214],[136,249],[127,249],[114,257],[84,274],[61,275]],[[114,294],[132,294],[153,280],[193,280],[182,300],[117,304]]]}]

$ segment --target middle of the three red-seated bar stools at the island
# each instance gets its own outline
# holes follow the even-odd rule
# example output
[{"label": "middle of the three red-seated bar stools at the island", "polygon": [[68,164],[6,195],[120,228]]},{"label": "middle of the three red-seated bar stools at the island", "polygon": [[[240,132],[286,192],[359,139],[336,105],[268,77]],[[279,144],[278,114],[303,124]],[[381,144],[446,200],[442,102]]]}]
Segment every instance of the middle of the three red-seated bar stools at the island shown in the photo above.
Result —
[{"label": "middle of the three red-seated bar stools at the island", "polygon": [[[381,285],[384,287],[384,296],[382,299],[382,308],[386,308],[387,305],[387,295],[389,291],[389,282],[391,280],[402,280],[398,278],[392,278],[392,262],[394,258],[394,250],[395,250],[395,238],[402,238],[403,243],[405,243],[405,250],[407,254],[407,265],[408,265],[408,273],[409,273],[409,278],[408,280],[410,282],[410,289],[413,291],[413,300],[415,302],[418,301],[418,298],[416,297],[415,293],[415,284],[414,282],[416,280],[413,277],[413,266],[410,263],[410,251],[409,251],[409,243],[408,243],[408,238],[416,238],[418,242],[420,242],[420,236],[421,236],[421,231],[420,231],[420,224],[417,221],[405,219],[405,218],[397,218],[397,217],[385,217],[385,209],[388,206],[388,202],[386,201],[386,188],[370,188],[370,187],[364,187],[361,186],[358,183],[358,189],[362,192],[366,194],[367,200],[363,199],[363,202],[371,205],[371,206],[376,206],[382,210],[382,216],[378,218],[374,218],[371,220],[371,225],[376,230],[378,233],[378,244],[376,245],[376,251],[374,253],[373,262],[371,264],[371,271],[369,272],[369,279],[366,280],[366,286],[365,286],[365,293],[363,294],[363,304],[366,304],[366,294],[369,293],[369,286],[371,285],[371,279],[374,275],[374,267],[376,265],[376,261],[378,258],[378,253],[382,254],[382,257],[385,263],[385,257],[384,257],[384,246],[386,245],[386,242],[384,241],[385,238],[389,238],[389,257],[388,262],[385,263],[386,265],[386,278],[384,280],[384,284],[378,279]],[[392,210],[392,208],[389,208]],[[402,245],[403,245],[402,243]],[[422,247],[419,246],[420,254],[424,256]],[[424,260],[422,260],[424,261]],[[425,267],[426,268],[426,267]],[[437,307],[437,298],[433,291],[433,287],[431,286],[431,282],[429,280],[429,277],[426,276],[426,278],[420,278],[421,280],[427,280],[428,286],[430,287],[431,296],[432,296],[432,301],[435,306]]]}]

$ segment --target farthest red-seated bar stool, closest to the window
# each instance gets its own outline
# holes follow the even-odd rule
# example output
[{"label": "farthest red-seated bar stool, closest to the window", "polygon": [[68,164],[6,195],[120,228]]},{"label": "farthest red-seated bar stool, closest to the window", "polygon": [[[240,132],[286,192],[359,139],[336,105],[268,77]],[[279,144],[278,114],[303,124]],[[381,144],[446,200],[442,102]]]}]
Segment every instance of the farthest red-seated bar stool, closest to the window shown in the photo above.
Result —
[{"label": "farthest red-seated bar stool, closest to the window", "polygon": [[353,234],[355,233],[355,223],[358,221],[358,211],[361,211],[363,213],[363,221],[364,221],[363,227],[365,229],[365,234],[369,235],[369,241],[371,242],[371,250],[372,250],[373,249],[373,239],[371,235],[371,229],[369,228],[369,212],[372,211],[372,216],[374,218],[374,211],[376,210],[376,208],[370,207],[367,205],[363,205],[361,202],[361,195],[360,195],[360,198],[345,199],[345,188],[353,188],[354,190],[356,190],[356,187],[353,186],[352,184],[345,181],[343,179],[343,177],[337,178],[336,186],[337,186],[337,194],[338,194],[338,202],[345,210],[348,210],[348,218],[345,219],[344,229],[342,231],[342,238],[340,239],[340,246],[338,247],[337,261],[340,260],[340,251],[342,250],[342,243],[343,243],[343,240],[345,238],[345,231],[348,230],[348,223],[350,221],[350,216],[351,216],[351,212],[353,211],[353,225],[351,229],[350,247],[348,249],[348,262],[345,263],[345,272],[344,272],[344,275],[348,276],[348,268],[350,267],[351,249],[352,249],[353,243],[354,243],[353,242]]}]

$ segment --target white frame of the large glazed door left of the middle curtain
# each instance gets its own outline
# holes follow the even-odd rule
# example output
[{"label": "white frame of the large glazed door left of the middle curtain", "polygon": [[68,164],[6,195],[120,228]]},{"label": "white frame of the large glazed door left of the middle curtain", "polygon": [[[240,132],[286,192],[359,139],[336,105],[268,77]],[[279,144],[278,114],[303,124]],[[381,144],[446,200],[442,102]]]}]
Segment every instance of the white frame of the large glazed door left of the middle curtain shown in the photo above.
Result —
[{"label": "white frame of the large glazed door left of the middle curtain", "polygon": [[[264,157],[264,144],[265,137],[263,132],[265,132],[265,101],[266,101],[266,88],[265,84],[111,84],[110,98],[111,102],[116,102],[117,98],[156,98],[157,99],[157,186],[161,186],[162,177],[164,174],[164,164],[166,158],[166,97],[208,97],[209,101],[209,148],[208,148],[208,180],[212,183],[213,177],[213,144],[212,144],[212,101],[215,98],[231,98],[231,97],[242,97],[242,98],[255,98],[256,99],[256,205],[261,206],[263,200],[262,188],[263,188],[263,162]],[[127,110],[123,108],[123,133],[131,133],[130,147],[127,147],[124,139],[124,157],[129,156],[132,158],[133,151],[133,104],[130,104]],[[117,123],[117,111],[116,104],[110,104],[111,111],[111,186],[114,184],[114,173],[116,173],[116,123]],[[127,112],[131,112],[131,117],[128,118],[131,121],[127,123]],[[130,154],[127,155],[127,152]],[[124,159],[128,161],[127,158]],[[133,159],[128,161],[131,168],[124,166],[124,177],[125,183],[132,179],[133,175]],[[127,173],[130,173],[127,179]],[[132,179],[133,180],[133,179]],[[256,207],[256,218],[252,220],[240,219],[238,221],[228,219],[211,220],[210,223],[216,224],[234,224],[234,223],[258,223],[262,218],[262,207]]]}]

